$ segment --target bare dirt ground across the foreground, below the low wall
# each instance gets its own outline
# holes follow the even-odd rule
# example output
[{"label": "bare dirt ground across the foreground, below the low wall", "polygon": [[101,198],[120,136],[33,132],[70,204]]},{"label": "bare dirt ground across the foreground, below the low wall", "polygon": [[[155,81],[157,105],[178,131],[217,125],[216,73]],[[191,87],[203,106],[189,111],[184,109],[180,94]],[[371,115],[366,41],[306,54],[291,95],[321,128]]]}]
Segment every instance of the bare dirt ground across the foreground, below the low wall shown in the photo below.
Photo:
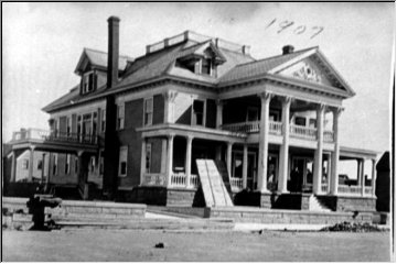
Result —
[{"label": "bare dirt ground across the foreground, below the low wall", "polygon": [[[164,249],[155,249],[159,242]],[[390,261],[389,232],[4,231],[2,260],[55,261]]]}]

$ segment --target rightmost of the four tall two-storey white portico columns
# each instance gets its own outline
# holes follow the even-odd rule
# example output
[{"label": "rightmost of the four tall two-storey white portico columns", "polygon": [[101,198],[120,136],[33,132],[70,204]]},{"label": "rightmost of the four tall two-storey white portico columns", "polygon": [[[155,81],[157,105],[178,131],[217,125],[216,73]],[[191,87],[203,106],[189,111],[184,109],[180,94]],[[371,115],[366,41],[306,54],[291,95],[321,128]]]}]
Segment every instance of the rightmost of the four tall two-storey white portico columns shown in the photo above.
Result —
[{"label": "rightmost of the four tall two-storey white portico columns", "polygon": [[334,133],[334,151],[332,152],[332,173],[331,173],[331,195],[337,195],[339,175],[337,164],[340,156],[339,145],[339,117],[342,112],[342,108],[334,108],[333,110],[333,133]]}]

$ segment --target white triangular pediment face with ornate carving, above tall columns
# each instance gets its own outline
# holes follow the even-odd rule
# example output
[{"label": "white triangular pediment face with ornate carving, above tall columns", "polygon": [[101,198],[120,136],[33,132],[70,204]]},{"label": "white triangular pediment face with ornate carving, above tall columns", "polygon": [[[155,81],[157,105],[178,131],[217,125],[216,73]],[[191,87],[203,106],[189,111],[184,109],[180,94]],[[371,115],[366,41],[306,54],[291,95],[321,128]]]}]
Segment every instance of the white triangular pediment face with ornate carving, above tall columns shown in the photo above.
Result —
[{"label": "white triangular pediment face with ornate carving, above tall columns", "polygon": [[278,73],[286,77],[298,78],[307,81],[312,81],[325,86],[335,86],[337,82],[329,77],[323,68],[320,67],[311,57],[304,58],[290,67]]}]

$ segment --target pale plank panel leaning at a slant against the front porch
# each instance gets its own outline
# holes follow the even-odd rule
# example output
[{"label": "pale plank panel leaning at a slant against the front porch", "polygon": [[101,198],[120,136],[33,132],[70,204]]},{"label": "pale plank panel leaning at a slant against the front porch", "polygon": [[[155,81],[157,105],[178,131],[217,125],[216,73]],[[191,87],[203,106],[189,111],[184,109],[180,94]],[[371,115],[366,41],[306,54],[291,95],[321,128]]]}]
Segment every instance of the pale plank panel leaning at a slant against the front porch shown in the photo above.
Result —
[{"label": "pale plank panel leaning at a slant against the front porch", "polygon": [[200,183],[207,207],[232,207],[233,201],[213,160],[196,160]]}]

